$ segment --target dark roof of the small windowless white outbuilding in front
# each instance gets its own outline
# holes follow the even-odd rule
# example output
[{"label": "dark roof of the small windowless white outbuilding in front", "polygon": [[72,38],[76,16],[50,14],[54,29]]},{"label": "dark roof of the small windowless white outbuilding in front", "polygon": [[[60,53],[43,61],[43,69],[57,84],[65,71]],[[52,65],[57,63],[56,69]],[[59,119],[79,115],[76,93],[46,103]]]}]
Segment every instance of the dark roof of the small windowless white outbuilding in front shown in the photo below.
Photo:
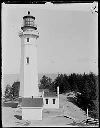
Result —
[{"label": "dark roof of the small windowless white outbuilding in front", "polygon": [[43,98],[23,98],[22,107],[42,107]]}]

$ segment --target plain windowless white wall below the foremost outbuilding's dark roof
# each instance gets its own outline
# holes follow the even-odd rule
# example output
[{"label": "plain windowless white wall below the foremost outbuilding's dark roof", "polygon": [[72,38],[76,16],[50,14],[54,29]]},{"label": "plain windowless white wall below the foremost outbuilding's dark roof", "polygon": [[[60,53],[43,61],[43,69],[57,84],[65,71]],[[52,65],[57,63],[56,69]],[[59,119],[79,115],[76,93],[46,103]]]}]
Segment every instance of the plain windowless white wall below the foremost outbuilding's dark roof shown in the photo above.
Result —
[{"label": "plain windowless white wall below the foremost outbuilding's dark roof", "polygon": [[23,120],[42,120],[42,108],[22,108]]}]

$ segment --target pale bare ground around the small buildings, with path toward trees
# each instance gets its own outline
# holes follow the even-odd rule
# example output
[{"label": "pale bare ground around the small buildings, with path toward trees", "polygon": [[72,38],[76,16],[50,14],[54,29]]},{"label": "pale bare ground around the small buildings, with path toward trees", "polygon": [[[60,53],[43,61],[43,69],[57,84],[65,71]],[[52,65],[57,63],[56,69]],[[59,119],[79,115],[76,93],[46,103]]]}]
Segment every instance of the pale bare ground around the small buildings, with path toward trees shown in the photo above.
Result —
[{"label": "pale bare ground around the small buildings, with path toward trees", "polygon": [[[64,116],[65,115],[65,116]],[[67,115],[67,116],[66,116]],[[66,95],[60,95],[59,109],[44,109],[42,121],[22,120],[21,109],[2,107],[3,127],[19,126],[72,126],[82,124],[86,114],[80,108],[66,99]],[[76,126],[75,125],[75,126]],[[83,125],[85,126],[85,124]]]}]

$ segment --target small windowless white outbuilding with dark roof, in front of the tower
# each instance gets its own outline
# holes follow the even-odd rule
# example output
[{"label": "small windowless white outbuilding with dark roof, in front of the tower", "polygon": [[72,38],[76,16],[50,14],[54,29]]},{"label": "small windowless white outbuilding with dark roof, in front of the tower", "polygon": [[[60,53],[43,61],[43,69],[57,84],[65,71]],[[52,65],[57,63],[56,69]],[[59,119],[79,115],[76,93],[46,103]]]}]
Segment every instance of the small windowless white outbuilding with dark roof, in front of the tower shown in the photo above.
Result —
[{"label": "small windowless white outbuilding with dark roof, in front of the tower", "polygon": [[43,98],[22,99],[22,119],[42,120]]}]

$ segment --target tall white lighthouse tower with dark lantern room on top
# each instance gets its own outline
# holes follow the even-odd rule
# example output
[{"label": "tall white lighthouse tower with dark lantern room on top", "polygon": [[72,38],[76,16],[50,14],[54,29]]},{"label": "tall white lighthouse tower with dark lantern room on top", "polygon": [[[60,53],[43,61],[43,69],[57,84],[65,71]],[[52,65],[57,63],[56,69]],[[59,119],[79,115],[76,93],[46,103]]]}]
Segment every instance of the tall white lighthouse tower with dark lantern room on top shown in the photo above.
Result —
[{"label": "tall white lighthouse tower with dark lantern room on top", "polygon": [[37,38],[39,33],[35,24],[35,17],[23,17],[21,38],[21,66],[20,66],[20,93],[21,97],[38,97],[37,72]]}]

